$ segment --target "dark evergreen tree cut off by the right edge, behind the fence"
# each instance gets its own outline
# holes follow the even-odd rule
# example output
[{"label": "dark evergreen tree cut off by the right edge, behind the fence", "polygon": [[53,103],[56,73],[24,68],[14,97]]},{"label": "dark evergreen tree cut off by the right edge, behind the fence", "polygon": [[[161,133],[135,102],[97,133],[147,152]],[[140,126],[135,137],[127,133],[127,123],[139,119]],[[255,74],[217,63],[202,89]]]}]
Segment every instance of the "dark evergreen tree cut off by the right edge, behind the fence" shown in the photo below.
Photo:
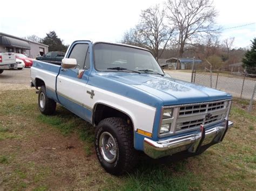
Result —
[{"label": "dark evergreen tree cut off by the right edge, behind the fence", "polygon": [[256,38],[252,41],[251,49],[245,53],[242,66],[247,68],[256,67]]}]

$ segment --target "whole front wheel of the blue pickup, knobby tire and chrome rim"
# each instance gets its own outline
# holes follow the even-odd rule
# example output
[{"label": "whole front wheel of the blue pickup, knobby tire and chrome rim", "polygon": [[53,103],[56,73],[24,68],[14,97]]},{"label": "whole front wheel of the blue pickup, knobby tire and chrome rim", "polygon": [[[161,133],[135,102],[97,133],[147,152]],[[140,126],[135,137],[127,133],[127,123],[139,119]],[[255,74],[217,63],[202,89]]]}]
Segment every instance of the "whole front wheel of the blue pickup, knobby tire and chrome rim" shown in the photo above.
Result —
[{"label": "whole front wheel of the blue pickup, knobby tire and chrome rim", "polygon": [[99,123],[95,149],[100,165],[110,174],[121,175],[136,165],[132,127],[122,118],[110,117]]}]

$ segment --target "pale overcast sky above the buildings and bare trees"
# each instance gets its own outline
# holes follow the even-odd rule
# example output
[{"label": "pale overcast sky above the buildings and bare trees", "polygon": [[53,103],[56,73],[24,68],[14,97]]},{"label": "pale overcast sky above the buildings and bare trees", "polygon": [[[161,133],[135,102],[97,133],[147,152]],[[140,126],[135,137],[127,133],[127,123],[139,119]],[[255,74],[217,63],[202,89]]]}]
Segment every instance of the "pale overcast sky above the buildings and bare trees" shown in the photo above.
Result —
[{"label": "pale overcast sky above the buildings and bare trees", "polygon": [[[120,41],[124,32],[138,23],[141,10],[161,2],[164,1],[1,1],[0,32],[43,38],[54,30],[65,44],[81,39]],[[224,30],[220,37],[235,37],[235,47],[249,46],[256,37],[256,1],[214,0],[214,5],[219,12],[217,23],[223,28],[254,23]]]}]

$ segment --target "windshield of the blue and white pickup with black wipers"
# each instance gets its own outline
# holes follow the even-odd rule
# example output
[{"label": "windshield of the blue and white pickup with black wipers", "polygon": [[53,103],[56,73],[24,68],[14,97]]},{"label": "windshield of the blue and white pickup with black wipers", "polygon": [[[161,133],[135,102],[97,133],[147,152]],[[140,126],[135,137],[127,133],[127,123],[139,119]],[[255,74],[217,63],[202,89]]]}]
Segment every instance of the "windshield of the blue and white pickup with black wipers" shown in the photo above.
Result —
[{"label": "windshield of the blue and white pickup with black wipers", "polygon": [[134,70],[140,73],[164,74],[152,54],[142,49],[97,43],[94,46],[94,53],[95,68],[99,71],[127,72]]}]

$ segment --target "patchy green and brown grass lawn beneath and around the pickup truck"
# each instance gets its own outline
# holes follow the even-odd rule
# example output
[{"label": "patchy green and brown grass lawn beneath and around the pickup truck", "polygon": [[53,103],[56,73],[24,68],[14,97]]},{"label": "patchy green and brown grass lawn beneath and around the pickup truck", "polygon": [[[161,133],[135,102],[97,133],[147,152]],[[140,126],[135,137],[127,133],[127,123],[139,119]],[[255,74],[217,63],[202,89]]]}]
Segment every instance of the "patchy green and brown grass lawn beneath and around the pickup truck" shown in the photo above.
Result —
[{"label": "patchy green and brown grass lawn beneath and around the pickup truck", "polygon": [[[19,99],[16,99],[19,97]],[[93,148],[94,128],[58,105],[44,116],[34,90],[0,94],[0,189],[254,190],[256,112],[234,100],[234,128],[203,154],[182,159],[140,157],[133,173],[107,174]]]}]

